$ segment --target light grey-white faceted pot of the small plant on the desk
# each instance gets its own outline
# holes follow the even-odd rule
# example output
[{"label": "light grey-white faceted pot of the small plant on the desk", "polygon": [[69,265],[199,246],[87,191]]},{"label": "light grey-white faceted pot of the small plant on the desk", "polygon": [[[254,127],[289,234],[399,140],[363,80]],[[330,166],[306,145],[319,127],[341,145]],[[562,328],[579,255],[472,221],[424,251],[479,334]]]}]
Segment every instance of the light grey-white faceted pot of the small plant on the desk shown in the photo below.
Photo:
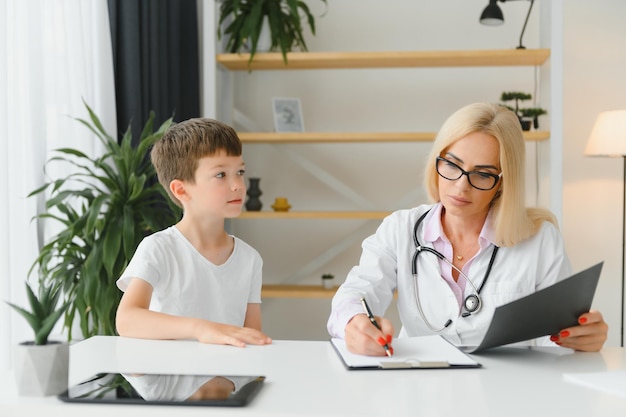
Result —
[{"label": "light grey-white faceted pot of the small plant on the desk", "polygon": [[69,343],[34,345],[24,342],[13,349],[13,371],[17,393],[44,397],[67,390]]}]

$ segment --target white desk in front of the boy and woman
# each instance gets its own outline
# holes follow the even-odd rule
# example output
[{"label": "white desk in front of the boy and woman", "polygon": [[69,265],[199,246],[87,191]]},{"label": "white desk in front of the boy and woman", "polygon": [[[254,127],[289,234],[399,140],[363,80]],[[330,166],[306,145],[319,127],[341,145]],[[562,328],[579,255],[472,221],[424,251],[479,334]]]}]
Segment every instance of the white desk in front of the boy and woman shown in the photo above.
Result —
[{"label": "white desk in front of the boy and woman", "polygon": [[[585,388],[564,373],[626,370],[626,350],[499,348],[478,369],[348,371],[329,342],[205,345],[98,336],[70,348],[70,383],[97,372],[259,374],[265,386],[245,408],[65,404],[0,394],[2,416],[625,416],[626,398]],[[11,381],[12,383],[12,381]],[[6,384],[3,382],[4,385]],[[6,408],[6,411],[5,411]]]}]

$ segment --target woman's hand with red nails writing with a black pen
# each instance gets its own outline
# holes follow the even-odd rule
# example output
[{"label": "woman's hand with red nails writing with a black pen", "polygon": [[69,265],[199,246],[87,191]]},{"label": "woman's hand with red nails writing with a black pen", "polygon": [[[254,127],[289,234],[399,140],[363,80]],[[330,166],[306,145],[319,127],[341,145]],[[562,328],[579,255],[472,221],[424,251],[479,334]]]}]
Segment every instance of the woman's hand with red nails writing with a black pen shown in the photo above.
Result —
[{"label": "woman's hand with red nails writing with a black pen", "polygon": [[393,354],[393,324],[382,317],[375,317],[382,330],[367,318],[365,314],[357,314],[346,325],[346,347],[352,353],[369,356],[385,356],[384,345],[389,346]]}]

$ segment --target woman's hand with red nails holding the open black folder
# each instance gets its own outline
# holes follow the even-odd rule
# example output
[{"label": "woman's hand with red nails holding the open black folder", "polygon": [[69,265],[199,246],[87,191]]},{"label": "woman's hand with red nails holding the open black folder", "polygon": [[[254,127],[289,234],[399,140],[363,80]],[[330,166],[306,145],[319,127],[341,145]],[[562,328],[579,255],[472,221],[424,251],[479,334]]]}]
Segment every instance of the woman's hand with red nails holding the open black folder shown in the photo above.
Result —
[{"label": "woman's hand with red nails holding the open black folder", "polygon": [[606,342],[609,326],[602,313],[591,310],[578,317],[578,326],[568,327],[559,334],[550,336],[550,340],[561,347],[584,352],[597,352]]}]

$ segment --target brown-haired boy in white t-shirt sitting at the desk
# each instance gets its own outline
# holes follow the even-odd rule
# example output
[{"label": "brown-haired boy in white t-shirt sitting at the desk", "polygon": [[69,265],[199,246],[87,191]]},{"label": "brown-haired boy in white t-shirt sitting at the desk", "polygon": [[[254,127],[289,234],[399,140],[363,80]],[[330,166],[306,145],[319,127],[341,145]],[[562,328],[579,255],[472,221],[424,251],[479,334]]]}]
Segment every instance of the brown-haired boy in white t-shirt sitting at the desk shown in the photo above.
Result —
[{"label": "brown-haired boy in white t-shirt sitting at the desk", "polygon": [[140,243],[117,281],[121,336],[263,345],[259,253],[224,230],[246,196],[241,142],[229,126],[190,119],[154,145],[152,163],[183,209],[176,225]]}]

